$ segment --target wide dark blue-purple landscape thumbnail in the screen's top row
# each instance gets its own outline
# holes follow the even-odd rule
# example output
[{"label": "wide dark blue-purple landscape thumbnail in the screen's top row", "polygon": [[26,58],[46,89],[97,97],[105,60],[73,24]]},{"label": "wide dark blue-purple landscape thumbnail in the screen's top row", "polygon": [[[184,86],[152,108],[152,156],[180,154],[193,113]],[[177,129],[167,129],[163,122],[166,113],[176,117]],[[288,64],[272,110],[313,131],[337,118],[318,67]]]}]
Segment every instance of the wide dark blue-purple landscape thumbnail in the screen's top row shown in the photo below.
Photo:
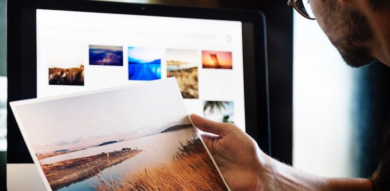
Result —
[{"label": "wide dark blue-purple landscape thumbnail in the screen's top row", "polygon": [[89,64],[123,66],[122,47],[89,45]]}]

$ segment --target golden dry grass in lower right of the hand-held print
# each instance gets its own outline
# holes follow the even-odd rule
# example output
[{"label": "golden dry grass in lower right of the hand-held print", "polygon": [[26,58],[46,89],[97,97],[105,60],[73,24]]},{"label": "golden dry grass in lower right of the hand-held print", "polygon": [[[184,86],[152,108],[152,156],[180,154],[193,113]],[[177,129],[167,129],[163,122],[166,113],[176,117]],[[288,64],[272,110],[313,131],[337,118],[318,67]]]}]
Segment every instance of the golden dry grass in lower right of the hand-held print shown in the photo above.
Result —
[{"label": "golden dry grass in lower right of the hand-held print", "polygon": [[228,190],[200,139],[182,143],[171,161],[131,172],[119,181],[101,180],[98,191]]}]

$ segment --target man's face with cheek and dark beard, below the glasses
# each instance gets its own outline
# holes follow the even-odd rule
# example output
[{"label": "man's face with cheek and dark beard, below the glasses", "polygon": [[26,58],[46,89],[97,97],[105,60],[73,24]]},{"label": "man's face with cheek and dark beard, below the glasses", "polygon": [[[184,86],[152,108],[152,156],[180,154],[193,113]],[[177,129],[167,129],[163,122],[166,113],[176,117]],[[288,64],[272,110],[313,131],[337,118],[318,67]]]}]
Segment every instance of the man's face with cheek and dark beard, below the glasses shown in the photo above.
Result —
[{"label": "man's face with cheek and dark beard, below the glasses", "polygon": [[312,11],[331,43],[352,67],[374,62],[368,46],[373,31],[366,16],[338,0],[310,0]]}]

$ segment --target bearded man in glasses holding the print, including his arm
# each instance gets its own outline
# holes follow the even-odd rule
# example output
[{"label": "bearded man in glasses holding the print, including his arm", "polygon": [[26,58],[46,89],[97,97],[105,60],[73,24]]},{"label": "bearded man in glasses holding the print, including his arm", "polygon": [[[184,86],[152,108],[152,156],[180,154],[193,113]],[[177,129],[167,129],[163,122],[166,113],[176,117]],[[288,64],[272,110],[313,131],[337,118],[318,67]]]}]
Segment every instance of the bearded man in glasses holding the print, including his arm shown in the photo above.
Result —
[{"label": "bearded man in glasses holding the print, including his arm", "polygon": [[[290,0],[289,4],[308,19],[315,17],[349,65],[360,67],[380,61],[390,66],[390,0],[304,1]],[[389,130],[381,165],[371,179],[323,178],[267,156],[234,124],[198,115],[191,115],[191,119],[200,130],[218,135],[203,137],[233,191],[390,191]]]}]

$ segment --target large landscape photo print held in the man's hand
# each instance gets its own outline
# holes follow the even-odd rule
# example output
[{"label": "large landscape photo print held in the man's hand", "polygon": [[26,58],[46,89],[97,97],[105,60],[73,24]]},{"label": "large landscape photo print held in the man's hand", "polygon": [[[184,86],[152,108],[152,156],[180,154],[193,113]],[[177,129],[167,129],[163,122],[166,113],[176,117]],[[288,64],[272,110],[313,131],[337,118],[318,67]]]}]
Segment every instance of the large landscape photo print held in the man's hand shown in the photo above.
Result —
[{"label": "large landscape photo print held in the man's hand", "polygon": [[228,190],[174,78],[13,111],[52,190]]}]

